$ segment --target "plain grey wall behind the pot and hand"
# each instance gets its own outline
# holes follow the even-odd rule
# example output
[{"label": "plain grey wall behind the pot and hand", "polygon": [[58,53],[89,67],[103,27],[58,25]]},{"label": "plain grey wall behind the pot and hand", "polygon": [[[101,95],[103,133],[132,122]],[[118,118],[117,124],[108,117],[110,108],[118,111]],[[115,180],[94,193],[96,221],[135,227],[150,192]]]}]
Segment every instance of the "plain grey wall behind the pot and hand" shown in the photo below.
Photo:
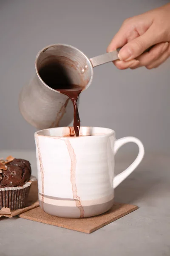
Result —
[{"label": "plain grey wall behind the pot and hand", "polygon": [[[123,20],[167,0],[1,0],[0,149],[34,149],[35,128],[18,109],[21,88],[34,75],[37,52],[48,44],[71,44],[89,57],[105,53]],[[146,151],[170,153],[170,61],[154,70],[96,67],[82,93],[82,125],[136,136]],[[133,147],[131,148],[133,149]]]}]

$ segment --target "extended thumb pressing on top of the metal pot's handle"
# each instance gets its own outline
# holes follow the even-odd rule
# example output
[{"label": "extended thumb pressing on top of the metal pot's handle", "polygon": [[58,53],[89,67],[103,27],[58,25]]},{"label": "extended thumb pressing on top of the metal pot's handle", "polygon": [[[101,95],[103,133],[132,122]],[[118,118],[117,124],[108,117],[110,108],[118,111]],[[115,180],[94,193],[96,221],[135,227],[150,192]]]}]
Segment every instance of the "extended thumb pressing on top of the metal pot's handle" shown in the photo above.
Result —
[{"label": "extended thumb pressing on top of the metal pot's handle", "polygon": [[133,39],[122,47],[119,51],[119,59],[122,61],[132,60],[158,42],[156,35],[150,27],[143,35]]}]

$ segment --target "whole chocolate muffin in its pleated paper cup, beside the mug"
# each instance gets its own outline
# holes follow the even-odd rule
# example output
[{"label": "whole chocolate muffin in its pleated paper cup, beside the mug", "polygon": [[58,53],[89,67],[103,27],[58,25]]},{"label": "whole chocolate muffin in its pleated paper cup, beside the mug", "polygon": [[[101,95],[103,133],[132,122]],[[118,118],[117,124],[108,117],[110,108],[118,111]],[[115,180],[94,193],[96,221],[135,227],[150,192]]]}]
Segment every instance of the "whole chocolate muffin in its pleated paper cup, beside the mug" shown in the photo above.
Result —
[{"label": "whole chocolate muffin in its pleated paper cup, beside the mug", "polygon": [[23,208],[30,189],[31,165],[27,160],[7,157],[0,160],[0,209]]}]

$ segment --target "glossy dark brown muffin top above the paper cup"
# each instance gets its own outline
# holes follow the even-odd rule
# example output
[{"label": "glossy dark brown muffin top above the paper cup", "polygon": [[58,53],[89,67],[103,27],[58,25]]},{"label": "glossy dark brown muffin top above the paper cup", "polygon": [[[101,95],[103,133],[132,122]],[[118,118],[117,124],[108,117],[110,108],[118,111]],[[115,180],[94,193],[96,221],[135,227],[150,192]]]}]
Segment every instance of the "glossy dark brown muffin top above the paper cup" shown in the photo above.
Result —
[{"label": "glossy dark brown muffin top above the paper cup", "polygon": [[27,160],[17,159],[5,162],[6,170],[1,169],[0,188],[23,186],[31,176],[31,165]]}]

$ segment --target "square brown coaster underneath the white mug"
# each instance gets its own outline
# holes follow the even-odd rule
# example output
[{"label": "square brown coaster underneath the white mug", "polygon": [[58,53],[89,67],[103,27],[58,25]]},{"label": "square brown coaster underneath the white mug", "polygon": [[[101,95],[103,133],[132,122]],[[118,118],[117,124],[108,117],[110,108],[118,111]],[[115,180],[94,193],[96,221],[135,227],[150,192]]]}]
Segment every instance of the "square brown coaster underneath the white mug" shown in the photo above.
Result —
[{"label": "square brown coaster underneath the white mug", "polygon": [[23,212],[19,217],[89,234],[136,209],[138,207],[135,205],[114,203],[108,212],[99,216],[74,219],[52,216],[42,211],[40,207],[37,207],[28,212]]}]

